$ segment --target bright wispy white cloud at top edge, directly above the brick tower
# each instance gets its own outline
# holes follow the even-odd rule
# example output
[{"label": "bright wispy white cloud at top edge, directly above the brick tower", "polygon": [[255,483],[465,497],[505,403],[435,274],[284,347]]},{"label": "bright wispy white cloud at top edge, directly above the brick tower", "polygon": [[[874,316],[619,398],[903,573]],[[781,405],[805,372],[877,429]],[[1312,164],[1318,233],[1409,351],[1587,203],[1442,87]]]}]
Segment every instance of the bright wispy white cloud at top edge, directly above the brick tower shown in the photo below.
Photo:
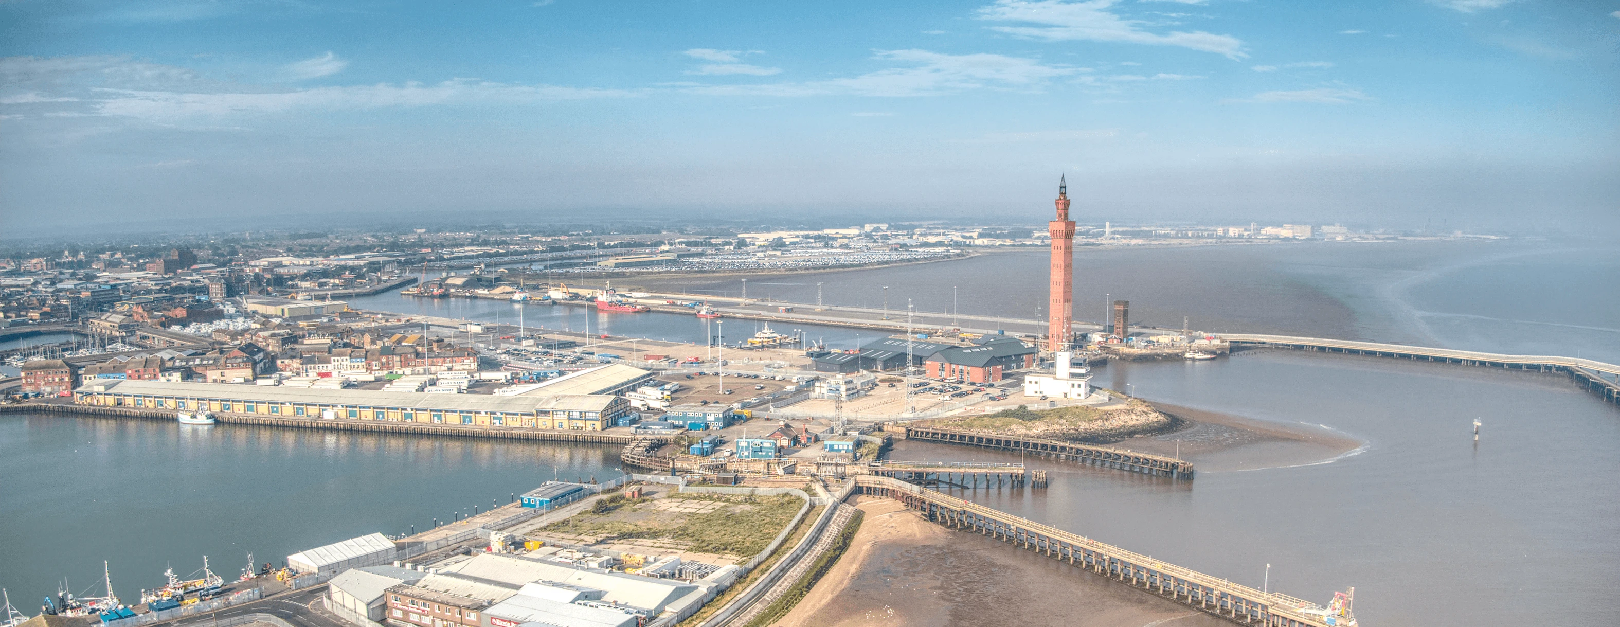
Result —
[{"label": "bright wispy white cloud at top edge, directly above the brick tower", "polygon": [[1213,52],[1228,58],[1244,58],[1243,42],[1225,34],[1144,31],[1147,21],[1126,19],[1110,11],[1118,0],[996,0],[982,6],[978,19],[1025,23],[1038,26],[991,26],[991,31],[1045,41],[1097,41],[1149,45],[1178,45]]}]

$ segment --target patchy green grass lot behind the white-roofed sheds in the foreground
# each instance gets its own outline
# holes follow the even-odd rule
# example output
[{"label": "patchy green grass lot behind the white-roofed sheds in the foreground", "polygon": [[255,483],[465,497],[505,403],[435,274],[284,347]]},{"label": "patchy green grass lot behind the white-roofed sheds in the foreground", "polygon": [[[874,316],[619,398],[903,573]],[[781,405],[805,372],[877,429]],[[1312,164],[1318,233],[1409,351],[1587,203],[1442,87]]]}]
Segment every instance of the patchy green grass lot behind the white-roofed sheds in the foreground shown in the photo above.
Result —
[{"label": "patchy green grass lot behind the white-roofed sheds in the foreground", "polygon": [[654,493],[603,502],[539,533],[567,543],[635,544],[742,562],[763,551],[804,507],[804,499],[791,494]]}]

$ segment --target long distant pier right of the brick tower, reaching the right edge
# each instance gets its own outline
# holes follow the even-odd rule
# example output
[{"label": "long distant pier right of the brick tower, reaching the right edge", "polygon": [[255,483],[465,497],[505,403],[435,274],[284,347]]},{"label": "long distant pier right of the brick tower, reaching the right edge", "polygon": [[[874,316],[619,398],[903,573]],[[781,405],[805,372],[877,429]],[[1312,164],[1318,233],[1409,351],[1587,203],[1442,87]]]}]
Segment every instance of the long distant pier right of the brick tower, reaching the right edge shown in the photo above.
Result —
[{"label": "long distant pier right of the brick tower, reaching the right edge", "polygon": [[1539,373],[1567,373],[1588,390],[1602,395],[1610,403],[1620,403],[1620,366],[1596,360],[1560,355],[1505,355],[1474,350],[1408,347],[1400,343],[1335,340],[1325,337],[1220,334],[1233,345],[1294,348],[1348,355],[1388,356],[1411,361],[1442,361],[1463,366],[1503,369],[1531,369]]}]

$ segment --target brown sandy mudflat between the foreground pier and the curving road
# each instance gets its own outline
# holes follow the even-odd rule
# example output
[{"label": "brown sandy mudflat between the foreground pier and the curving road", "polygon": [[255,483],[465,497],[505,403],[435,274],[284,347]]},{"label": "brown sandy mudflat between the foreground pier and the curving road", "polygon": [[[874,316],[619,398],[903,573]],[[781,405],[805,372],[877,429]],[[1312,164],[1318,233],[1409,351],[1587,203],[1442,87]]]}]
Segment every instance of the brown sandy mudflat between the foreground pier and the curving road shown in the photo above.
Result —
[{"label": "brown sandy mudflat between the foreground pier and the curving road", "polygon": [[852,502],[867,520],[849,552],[776,625],[1226,625],[1089,570],[930,523],[889,499]]}]

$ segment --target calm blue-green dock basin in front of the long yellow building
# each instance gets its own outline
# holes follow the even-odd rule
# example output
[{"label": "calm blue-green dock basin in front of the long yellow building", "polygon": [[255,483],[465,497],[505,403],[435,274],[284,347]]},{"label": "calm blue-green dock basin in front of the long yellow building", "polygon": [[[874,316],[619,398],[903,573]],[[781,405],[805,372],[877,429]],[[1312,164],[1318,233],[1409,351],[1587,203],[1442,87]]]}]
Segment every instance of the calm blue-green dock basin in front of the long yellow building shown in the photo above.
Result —
[{"label": "calm blue-green dock basin in front of the long yellow building", "polygon": [[68,578],[126,601],[209,556],[235,578],[251,551],[428,530],[562,478],[619,476],[619,450],[458,437],[0,415],[0,586],[39,612]]}]

